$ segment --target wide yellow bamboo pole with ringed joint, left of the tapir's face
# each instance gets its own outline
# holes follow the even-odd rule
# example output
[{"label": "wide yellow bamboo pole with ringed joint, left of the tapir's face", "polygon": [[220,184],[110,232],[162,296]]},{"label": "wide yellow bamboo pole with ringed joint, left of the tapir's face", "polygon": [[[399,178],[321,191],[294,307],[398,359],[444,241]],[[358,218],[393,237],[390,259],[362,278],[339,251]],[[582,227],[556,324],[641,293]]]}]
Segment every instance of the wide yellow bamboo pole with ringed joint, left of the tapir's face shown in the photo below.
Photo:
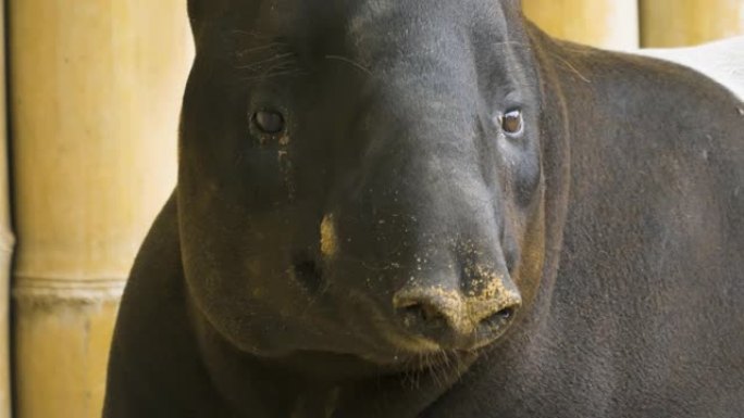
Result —
[{"label": "wide yellow bamboo pole with ringed joint, left of the tapir's face", "polygon": [[18,418],[100,417],[125,277],[175,182],[184,0],[9,0]]}]

